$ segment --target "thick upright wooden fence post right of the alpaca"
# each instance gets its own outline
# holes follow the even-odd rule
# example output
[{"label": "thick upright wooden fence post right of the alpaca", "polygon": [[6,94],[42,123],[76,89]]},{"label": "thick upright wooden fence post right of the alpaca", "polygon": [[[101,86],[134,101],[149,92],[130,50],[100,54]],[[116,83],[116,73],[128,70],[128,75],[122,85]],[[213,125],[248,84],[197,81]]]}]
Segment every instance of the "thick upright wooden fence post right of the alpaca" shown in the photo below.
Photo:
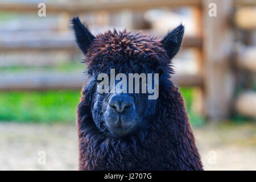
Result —
[{"label": "thick upright wooden fence post right of the alpaca", "polygon": [[[234,80],[230,68],[232,31],[231,0],[203,0],[205,114],[209,120],[228,118],[233,99]],[[209,6],[210,5],[210,6]],[[216,6],[217,16],[209,11]]]}]

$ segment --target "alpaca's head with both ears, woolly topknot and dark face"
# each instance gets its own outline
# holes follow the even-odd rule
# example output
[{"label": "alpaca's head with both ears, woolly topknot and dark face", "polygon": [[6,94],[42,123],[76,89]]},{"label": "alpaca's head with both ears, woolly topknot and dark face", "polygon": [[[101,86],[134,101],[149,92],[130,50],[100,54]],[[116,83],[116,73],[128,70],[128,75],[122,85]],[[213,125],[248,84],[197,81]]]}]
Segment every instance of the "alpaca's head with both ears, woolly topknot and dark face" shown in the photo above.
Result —
[{"label": "alpaca's head with both ears, woolly topknot and dark face", "polygon": [[[94,36],[78,17],[72,19],[72,25],[77,44],[86,56],[90,76],[88,102],[95,125],[100,131],[117,136],[133,134],[142,127],[145,129],[156,112],[156,92],[161,93],[160,89],[173,72],[171,59],[179,51],[184,27],[180,25],[163,39],[156,40],[126,30]],[[138,81],[130,74],[137,74]],[[145,82],[143,78],[146,78]],[[134,82],[130,83],[131,80]],[[154,92],[148,92],[148,81]],[[146,92],[143,92],[143,86],[146,86]]]}]

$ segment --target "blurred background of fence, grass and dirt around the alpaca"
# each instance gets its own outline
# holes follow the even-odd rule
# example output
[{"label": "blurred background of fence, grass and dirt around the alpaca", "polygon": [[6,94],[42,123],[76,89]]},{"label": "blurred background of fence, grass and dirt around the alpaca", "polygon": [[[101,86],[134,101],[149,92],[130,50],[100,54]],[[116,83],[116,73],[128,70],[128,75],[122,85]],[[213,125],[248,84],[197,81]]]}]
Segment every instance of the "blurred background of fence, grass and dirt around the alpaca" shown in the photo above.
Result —
[{"label": "blurred background of fence, grass and dirt around the alpaca", "polygon": [[182,22],[174,82],[204,168],[256,169],[255,0],[0,1],[0,169],[77,170],[86,75],[69,28],[76,15],[93,34],[162,38]]}]

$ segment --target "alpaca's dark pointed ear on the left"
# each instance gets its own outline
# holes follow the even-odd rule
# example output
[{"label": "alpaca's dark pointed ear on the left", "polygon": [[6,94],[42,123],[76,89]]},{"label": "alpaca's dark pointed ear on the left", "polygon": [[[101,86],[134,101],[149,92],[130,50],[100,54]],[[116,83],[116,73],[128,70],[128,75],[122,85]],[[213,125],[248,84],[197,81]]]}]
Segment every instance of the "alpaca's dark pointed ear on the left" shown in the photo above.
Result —
[{"label": "alpaca's dark pointed ear on the left", "polygon": [[80,22],[79,16],[72,18],[71,23],[75,32],[76,42],[81,51],[86,54],[87,49],[90,43],[92,43],[92,40],[95,39],[95,36],[92,35],[88,27]]}]

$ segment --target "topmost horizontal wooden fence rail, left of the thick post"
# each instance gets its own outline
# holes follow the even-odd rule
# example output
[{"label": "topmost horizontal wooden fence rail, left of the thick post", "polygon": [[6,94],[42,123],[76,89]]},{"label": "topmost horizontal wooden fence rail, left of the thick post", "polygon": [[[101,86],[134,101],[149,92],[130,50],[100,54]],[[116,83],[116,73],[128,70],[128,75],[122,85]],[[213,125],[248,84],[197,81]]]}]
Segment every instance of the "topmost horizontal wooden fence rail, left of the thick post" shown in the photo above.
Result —
[{"label": "topmost horizontal wooden fence rail, left of the thick post", "polygon": [[[87,13],[90,11],[120,11],[125,9],[143,10],[158,7],[200,6],[200,0],[158,0],[158,1],[93,1],[90,3],[46,3],[47,13]],[[0,2],[0,11],[36,13],[38,3]]]}]

